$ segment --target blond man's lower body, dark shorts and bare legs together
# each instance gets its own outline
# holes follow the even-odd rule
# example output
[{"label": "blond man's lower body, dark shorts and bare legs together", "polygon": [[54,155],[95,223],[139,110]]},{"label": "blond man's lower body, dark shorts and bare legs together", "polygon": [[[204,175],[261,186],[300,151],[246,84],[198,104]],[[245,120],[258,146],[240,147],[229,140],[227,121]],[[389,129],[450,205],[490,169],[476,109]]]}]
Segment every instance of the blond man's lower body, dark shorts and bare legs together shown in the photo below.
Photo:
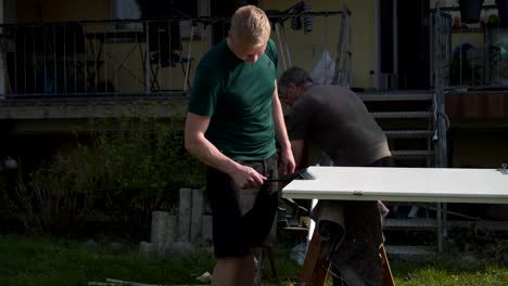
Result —
[{"label": "blond man's lower body, dark shorts and bare legs together", "polygon": [[[268,178],[277,179],[277,157],[274,156],[269,160],[270,162],[241,164]],[[239,188],[224,173],[212,171],[207,174],[214,223],[214,250],[217,258],[213,284],[253,285],[255,265],[252,247],[263,246],[267,233],[275,225],[277,188],[274,185]],[[271,208],[274,213],[268,214]]]}]

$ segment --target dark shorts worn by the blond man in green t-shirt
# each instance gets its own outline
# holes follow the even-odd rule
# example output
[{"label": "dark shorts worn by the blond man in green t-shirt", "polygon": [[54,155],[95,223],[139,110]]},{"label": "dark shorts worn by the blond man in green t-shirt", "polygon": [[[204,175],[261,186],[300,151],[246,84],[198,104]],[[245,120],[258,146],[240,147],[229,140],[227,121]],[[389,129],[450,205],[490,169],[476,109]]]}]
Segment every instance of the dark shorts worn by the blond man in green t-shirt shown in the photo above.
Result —
[{"label": "dark shorts worn by the blond man in green t-shirt", "polygon": [[[239,162],[268,179],[277,179],[277,155],[266,160]],[[276,183],[264,184],[261,188],[240,188],[228,174],[208,168],[206,188],[212,207],[216,258],[245,256],[253,247],[275,240]]]}]

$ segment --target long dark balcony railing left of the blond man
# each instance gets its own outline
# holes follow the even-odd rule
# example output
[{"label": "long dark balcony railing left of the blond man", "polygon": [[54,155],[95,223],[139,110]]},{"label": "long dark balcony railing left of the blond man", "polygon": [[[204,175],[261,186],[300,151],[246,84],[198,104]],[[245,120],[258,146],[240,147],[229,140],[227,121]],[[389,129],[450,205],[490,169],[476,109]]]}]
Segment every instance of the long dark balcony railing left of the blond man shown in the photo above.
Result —
[{"label": "long dark balcony railing left of the blond man", "polygon": [[0,25],[4,75],[0,93],[5,98],[186,93],[194,62],[208,47],[204,23],[188,23]]}]

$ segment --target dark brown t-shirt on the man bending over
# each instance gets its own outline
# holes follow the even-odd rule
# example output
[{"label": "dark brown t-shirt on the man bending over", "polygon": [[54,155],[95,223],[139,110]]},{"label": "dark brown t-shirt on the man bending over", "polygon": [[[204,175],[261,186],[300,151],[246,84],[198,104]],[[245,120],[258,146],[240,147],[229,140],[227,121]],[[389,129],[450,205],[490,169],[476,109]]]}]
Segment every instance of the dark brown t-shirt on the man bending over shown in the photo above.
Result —
[{"label": "dark brown t-shirt on the man bending over", "polygon": [[347,88],[307,88],[291,107],[287,126],[291,140],[309,139],[336,166],[366,166],[391,156],[383,131]]}]

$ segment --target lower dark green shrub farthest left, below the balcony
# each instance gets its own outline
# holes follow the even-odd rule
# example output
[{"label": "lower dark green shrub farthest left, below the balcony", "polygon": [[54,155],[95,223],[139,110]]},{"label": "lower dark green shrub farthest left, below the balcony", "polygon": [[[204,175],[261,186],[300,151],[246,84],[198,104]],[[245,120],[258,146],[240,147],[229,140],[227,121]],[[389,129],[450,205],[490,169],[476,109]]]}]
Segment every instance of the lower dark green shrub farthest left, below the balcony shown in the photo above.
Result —
[{"label": "lower dark green shrub farthest left, below the balcony", "polygon": [[15,206],[27,231],[62,234],[80,221],[86,204],[78,206],[79,196],[86,197],[98,187],[98,173],[89,155],[88,147],[78,145],[68,154],[59,154],[26,180],[20,174]]}]

